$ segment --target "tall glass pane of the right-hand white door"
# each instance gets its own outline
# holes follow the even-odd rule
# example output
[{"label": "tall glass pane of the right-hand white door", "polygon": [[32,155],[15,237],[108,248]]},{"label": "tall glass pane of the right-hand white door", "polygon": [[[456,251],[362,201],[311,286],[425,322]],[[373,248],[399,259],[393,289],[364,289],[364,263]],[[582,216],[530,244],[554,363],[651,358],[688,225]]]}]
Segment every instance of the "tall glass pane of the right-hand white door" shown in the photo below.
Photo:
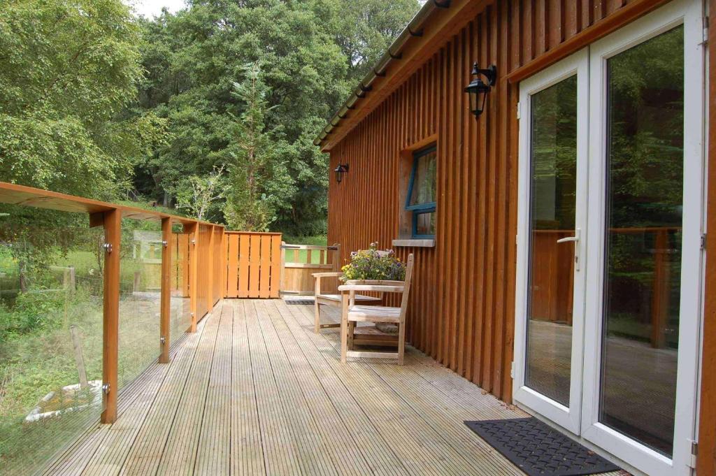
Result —
[{"label": "tall glass pane of the right-hand white door", "polygon": [[672,454],[682,249],[683,26],[609,59],[600,421]]}]

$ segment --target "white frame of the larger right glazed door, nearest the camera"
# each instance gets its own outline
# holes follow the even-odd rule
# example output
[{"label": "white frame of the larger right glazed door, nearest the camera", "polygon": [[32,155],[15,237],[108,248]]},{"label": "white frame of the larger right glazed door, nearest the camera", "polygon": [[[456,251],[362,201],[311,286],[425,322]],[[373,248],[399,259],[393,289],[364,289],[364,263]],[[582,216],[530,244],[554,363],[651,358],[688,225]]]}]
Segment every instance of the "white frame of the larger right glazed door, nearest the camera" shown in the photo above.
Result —
[{"label": "white frame of the larger right glazed door, nearest the camera", "polygon": [[[701,0],[674,0],[590,45],[589,231],[582,437],[653,476],[690,475],[702,320],[704,70]],[[673,459],[599,422],[606,220],[606,60],[684,24],[684,195]]]}]

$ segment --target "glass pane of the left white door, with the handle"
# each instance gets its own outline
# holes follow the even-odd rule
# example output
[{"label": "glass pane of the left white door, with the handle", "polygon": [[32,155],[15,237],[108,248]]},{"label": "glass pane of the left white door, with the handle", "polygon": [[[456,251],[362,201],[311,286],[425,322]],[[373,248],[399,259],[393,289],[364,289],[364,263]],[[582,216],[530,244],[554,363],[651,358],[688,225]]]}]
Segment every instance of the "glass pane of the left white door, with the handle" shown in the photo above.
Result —
[{"label": "glass pane of the left white door, with the handle", "polygon": [[576,212],[577,78],[531,99],[531,239],[525,383],[569,407]]}]

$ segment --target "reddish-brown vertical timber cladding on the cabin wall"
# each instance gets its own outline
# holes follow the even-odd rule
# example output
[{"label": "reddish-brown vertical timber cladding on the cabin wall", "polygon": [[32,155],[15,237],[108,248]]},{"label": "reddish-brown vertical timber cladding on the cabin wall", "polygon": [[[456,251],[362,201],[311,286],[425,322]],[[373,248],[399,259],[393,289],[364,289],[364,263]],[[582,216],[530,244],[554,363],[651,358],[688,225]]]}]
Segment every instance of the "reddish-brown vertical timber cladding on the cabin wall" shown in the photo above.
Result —
[{"label": "reddish-brown vertical timber cladding on the cabin wall", "polygon": [[[387,248],[398,238],[401,151],[437,143],[435,248],[398,250],[403,258],[415,253],[408,339],[505,401],[512,394],[518,155],[518,85],[506,77],[662,3],[495,1],[331,150],[331,169],[350,166],[342,183],[331,177],[329,185],[329,243],[341,243],[345,261],[371,241]],[[474,61],[498,67],[480,120],[463,92]]]}]

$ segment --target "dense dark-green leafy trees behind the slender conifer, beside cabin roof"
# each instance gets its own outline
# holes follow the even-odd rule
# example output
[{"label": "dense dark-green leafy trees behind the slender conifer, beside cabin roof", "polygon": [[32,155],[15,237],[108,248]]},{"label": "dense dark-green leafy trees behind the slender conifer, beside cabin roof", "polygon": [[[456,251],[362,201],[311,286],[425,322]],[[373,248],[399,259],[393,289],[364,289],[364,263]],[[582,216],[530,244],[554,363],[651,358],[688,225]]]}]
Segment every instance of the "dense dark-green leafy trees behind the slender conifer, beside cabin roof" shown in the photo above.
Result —
[{"label": "dense dark-green leafy trees behind the slender conifer, beside cabin roof", "polygon": [[[405,26],[417,2],[384,4],[387,12],[367,18],[375,22],[370,28],[387,38]],[[410,12],[390,13],[402,9]],[[328,165],[313,140],[354,85],[356,66],[348,49],[357,52],[355,58],[367,58],[367,49],[377,52],[390,41],[377,42],[378,36],[363,31],[371,41],[342,45],[341,39],[352,34],[347,26],[356,28],[344,18],[350,12],[352,4],[343,0],[212,0],[193,1],[177,14],[144,21],[147,78],[137,109],[168,120],[173,138],[137,165],[137,190],[170,205],[186,177],[205,176],[231,162],[228,152],[236,148],[231,114],[240,117],[246,107],[233,94],[233,82],[244,77],[246,64],[258,63],[266,85],[264,127],[281,136],[270,157],[280,158],[290,178],[287,183],[272,179],[271,190],[261,192],[276,216],[271,228],[296,234],[325,231]]]}]

